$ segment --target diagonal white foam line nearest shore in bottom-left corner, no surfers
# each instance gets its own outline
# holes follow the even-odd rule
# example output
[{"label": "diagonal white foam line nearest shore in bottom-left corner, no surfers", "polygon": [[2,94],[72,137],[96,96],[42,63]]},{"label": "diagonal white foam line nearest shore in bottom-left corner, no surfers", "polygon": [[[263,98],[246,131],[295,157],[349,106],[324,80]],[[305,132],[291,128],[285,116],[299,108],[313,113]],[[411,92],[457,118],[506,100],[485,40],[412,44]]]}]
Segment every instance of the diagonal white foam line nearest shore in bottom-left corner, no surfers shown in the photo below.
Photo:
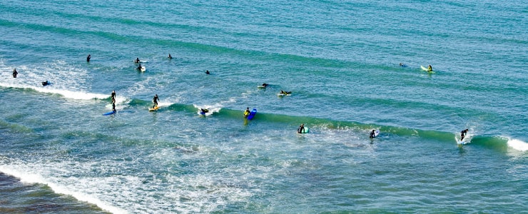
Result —
[{"label": "diagonal white foam line nearest shore in bottom-left corner, no surfers", "polygon": [[88,195],[86,193],[81,193],[75,190],[68,190],[68,188],[65,188],[59,184],[49,182],[45,178],[42,178],[41,175],[38,174],[31,174],[26,172],[21,172],[19,170],[14,170],[15,167],[6,167],[5,165],[0,165],[0,171],[2,173],[5,173],[7,175],[14,176],[16,178],[19,178],[21,182],[24,183],[42,183],[45,185],[48,185],[49,188],[54,190],[55,193],[63,194],[63,195],[71,195],[73,198],[76,198],[77,200],[86,201],[88,203],[92,203],[97,205],[99,208],[103,210],[107,210],[111,213],[127,213],[126,210],[123,210],[121,208],[114,207],[113,205],[109,205],[108,203],[103,202],[102,200],[99,200],[96,197],[93,197],[91,195]]}]

